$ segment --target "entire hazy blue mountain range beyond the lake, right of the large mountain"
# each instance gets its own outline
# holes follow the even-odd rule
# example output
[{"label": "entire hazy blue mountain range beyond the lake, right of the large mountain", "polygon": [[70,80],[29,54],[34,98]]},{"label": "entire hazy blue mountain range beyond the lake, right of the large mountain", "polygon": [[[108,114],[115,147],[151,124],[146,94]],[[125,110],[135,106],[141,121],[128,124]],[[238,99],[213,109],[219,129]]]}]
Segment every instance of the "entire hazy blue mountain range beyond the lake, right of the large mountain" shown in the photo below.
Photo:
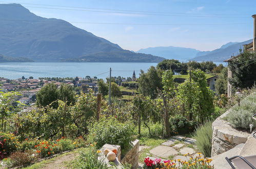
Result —
[{"label": "entire hazy blue mountain range beyond the lake, right of the large mountain", "polygon": [[243,49],[243,45],[249,44],[251,42],[252,39],[243,41],[242,43],[229,42],[225,45],[222,45],[221,48],[215,49],[213,51],[199,51],[191,48],[170,46],[146,48],[141,49],[137,52],[161,56],[167,59],[222,62],[230,58],[232,55],[238,55],[239,50]]}]

